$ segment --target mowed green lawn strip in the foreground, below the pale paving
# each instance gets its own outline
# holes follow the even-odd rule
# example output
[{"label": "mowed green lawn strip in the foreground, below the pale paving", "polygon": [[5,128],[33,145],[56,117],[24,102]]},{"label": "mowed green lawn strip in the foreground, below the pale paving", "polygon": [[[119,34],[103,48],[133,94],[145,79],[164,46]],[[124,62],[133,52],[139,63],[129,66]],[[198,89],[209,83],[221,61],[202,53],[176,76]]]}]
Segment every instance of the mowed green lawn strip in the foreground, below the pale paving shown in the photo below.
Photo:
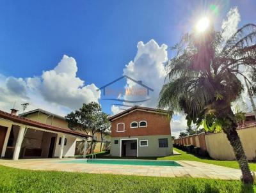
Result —
[{"label": "mowed green lawn strip in the foreground, below the pale paving", "polygon": [[[90,167],[90,166],[88,166]],[[253,192],[239,180],[29,171],[0,166],[0,192]]]}]

